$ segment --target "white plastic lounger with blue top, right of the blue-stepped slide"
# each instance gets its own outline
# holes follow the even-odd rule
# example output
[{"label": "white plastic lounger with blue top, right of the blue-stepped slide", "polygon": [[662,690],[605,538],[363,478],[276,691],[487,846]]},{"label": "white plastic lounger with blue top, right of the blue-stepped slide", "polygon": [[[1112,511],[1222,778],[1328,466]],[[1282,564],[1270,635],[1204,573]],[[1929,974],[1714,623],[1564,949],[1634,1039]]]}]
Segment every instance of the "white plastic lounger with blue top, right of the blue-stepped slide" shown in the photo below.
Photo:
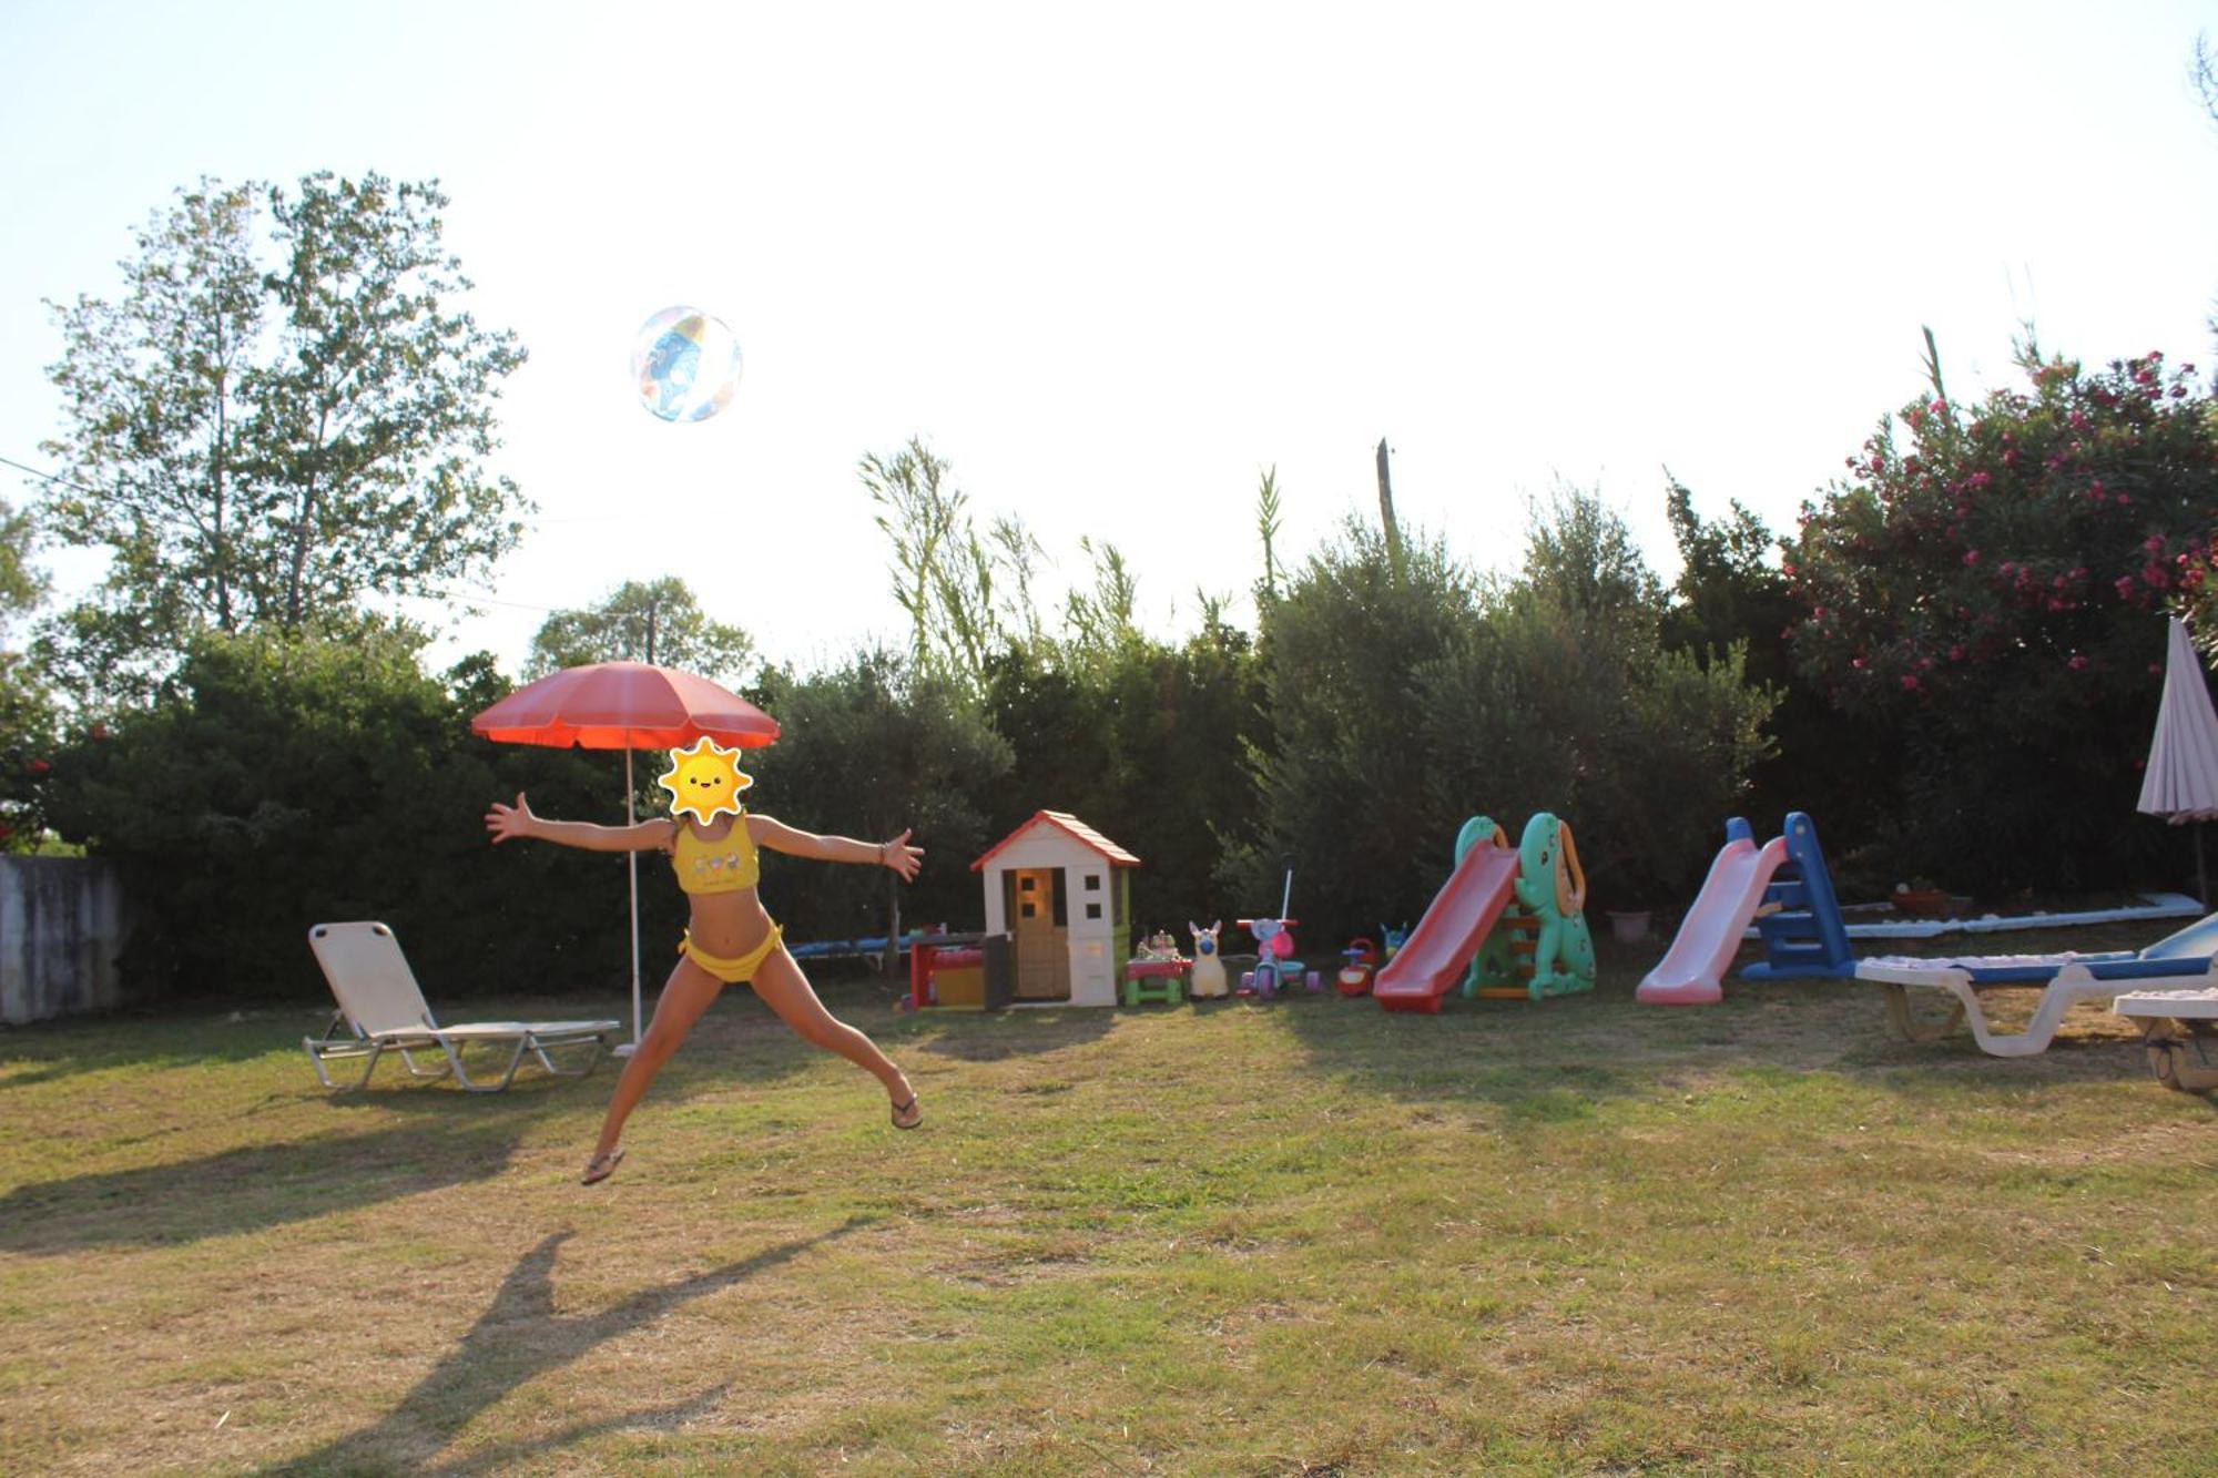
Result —
[{"label": "white plastic lounger with blue top, right of the blue-stepped slide", "polygon": [[[1856,963],[1856,979],[1888,990],[1888,1019],[1905,1041],[1939,1041],[1963,1019],[1983,1052],[2034,1056],[2056,1036],[2056,1023],[2078,1001],[2116,1001],[2136,990],[2185,990],[2218,985],[2205,919],[2140,954],[1978,954],[1956,959],[1881,956]],[[2200,945],[2200,952],[2178,952]],[[1910,988],[1943,990],[1956,999],[1947,1021],[1923,1025],[1910,1014]],[[1978,992],[1994,988],[2041,990],[2041,1003],[2023,1032],[2003,1034],[1987,1025]]]}]

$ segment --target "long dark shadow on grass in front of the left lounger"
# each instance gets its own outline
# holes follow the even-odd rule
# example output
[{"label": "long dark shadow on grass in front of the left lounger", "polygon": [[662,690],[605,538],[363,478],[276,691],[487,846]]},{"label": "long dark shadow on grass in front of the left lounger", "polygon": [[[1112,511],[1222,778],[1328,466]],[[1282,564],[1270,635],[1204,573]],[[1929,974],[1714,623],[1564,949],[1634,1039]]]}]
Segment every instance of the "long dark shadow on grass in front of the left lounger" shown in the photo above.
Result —
[{"label": "long dark shadow on grass in front of the left lounger", "polygon": [[519,1114],[479,1114],[470,1123],[441,1125],[435,1136],[419,1125],[317,1134],[171,1165],[33,1181],[0,1196],[0,1247],[58,1254],[260,1232],[490,1181],[508,1167],[521,1136]]}]

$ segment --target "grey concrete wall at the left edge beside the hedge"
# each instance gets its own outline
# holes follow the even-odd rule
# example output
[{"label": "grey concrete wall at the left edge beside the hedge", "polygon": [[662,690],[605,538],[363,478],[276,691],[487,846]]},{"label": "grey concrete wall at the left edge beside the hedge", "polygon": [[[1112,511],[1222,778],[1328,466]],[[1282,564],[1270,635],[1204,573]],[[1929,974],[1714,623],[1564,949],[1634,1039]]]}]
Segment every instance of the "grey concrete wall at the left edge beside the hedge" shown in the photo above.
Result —
[{"label": "grey concrete wall at the left edge beside the hedge", "polygon": [[122,1003],[124,948],[115,870],[87,857],[0,857],[0,1021],[98,1012]]}]

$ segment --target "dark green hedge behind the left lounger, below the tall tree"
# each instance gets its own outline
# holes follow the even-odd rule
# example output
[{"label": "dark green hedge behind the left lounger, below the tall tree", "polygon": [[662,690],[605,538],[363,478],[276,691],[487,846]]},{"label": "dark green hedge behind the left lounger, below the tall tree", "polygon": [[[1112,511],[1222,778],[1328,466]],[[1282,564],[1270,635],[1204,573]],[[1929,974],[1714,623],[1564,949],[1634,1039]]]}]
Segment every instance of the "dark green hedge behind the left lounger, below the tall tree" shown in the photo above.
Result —
[{"label": "dark green hedge behind the left lounger, below the tall tree", "polygon": [[[322,1001],[306,930],[339,919],[393,923],[439,994],[630,979],[621,868],[495,852],[481,821],[517,790],[550,814],[612,819],[614,801],[621,817],[608,757],[475,739],[475,708],[421,675],[417,650],[375,624],[204,632],[162,703],[53,755],[40,801],[120,865],[135,990]],[[661,919],[650,939],[672,934]]]}]

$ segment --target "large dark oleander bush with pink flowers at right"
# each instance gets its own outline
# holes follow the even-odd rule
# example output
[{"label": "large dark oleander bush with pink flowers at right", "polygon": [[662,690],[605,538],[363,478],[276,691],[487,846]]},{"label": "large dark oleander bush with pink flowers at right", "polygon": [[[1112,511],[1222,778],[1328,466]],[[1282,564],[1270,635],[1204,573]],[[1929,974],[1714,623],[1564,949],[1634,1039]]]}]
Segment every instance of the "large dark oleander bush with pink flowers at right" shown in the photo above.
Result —
[{"label": "large dark oleander bush with pink flowers at right", "polygon": [[1901,735],[1905,872],[2118,885],[2151,863],[2134,799],[2163,615],[2209,599],[2218,437],[2191,366],[2021,364],[2025,391],[1881,422],[1805,508],[1792,650]]}]

